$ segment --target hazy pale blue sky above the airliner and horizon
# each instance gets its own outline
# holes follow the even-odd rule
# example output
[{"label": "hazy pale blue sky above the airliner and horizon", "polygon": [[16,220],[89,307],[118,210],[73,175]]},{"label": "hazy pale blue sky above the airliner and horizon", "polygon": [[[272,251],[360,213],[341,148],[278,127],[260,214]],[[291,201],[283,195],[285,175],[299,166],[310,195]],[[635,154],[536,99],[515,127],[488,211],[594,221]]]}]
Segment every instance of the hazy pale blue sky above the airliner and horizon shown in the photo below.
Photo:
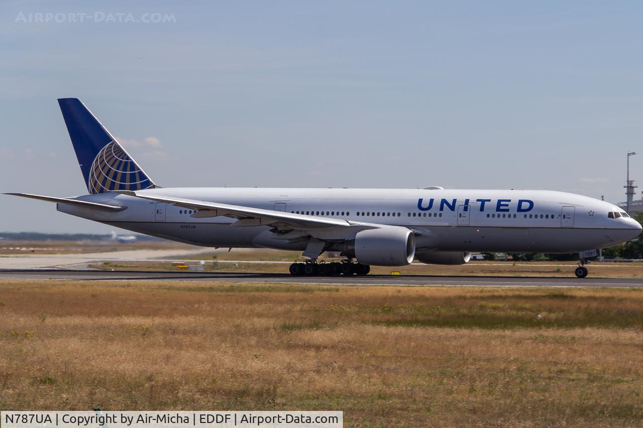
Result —
[{"label": "hazy pale blue sky above the airliner and horizon", "polygon": [[[4,0],[0,191],[87,193],[56,102],[75,97],[163,187],[624,201],[628,151],[643,190],[642,21],[635,0]],[[113,230],[0,207],[0,231]]]}]

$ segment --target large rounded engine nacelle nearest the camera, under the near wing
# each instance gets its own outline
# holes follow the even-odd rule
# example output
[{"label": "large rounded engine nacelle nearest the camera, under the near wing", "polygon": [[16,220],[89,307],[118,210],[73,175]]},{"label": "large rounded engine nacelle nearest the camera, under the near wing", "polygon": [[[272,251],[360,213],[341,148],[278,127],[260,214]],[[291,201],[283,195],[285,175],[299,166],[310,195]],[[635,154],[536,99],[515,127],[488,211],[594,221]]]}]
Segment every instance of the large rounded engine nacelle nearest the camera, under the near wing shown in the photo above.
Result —
[{"label": "large rounded engine nacelle nearest the camera, under the near wing", "polygon": [[406,227],[360,230],[355,235],[354,253],[363,264],[406,266],[415,257],[415,236]]}]

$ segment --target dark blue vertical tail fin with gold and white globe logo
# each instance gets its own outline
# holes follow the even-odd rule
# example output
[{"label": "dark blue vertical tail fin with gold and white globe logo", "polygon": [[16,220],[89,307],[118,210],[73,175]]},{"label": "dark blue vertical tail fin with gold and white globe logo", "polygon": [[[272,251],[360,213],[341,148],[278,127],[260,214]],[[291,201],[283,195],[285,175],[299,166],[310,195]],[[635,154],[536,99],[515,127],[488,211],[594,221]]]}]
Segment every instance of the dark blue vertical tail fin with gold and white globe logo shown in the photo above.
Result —
[{"label": "dark blue vertical tail fin with gold and white globe logo", "polygon": [[80,99],[58,103],[89,193],[157,187]]}]

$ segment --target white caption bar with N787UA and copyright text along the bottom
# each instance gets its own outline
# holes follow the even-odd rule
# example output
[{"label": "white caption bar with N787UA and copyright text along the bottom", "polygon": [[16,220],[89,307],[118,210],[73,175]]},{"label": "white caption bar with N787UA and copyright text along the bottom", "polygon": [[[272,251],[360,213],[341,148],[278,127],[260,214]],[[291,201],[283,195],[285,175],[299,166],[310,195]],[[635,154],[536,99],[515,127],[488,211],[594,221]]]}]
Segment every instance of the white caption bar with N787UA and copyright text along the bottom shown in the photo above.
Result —
[{"label": "white caption bar with N787UA and copyright text along the bottom", "polygon": [[341,411],[10,411],[3,428],[341,428]]}]

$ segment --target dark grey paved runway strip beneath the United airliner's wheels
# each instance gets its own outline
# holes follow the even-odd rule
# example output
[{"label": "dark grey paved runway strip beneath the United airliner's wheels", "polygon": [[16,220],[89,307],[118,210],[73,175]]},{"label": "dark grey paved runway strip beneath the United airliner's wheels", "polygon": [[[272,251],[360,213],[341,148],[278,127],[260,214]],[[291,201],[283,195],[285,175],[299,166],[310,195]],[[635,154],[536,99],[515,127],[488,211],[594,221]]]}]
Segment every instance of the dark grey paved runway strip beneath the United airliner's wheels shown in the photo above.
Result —
[{"label": "dark grey paved runway strip beneath the United airliner's wheels", "polygon": [[97,270],[0,270],[0,279],[157,280],[259,282],[342,286],[476,286],[476,287],[643,287],[643,278],[450,277],[368,275],[366,277],[291,277],[275,273],[141,272]]}]

